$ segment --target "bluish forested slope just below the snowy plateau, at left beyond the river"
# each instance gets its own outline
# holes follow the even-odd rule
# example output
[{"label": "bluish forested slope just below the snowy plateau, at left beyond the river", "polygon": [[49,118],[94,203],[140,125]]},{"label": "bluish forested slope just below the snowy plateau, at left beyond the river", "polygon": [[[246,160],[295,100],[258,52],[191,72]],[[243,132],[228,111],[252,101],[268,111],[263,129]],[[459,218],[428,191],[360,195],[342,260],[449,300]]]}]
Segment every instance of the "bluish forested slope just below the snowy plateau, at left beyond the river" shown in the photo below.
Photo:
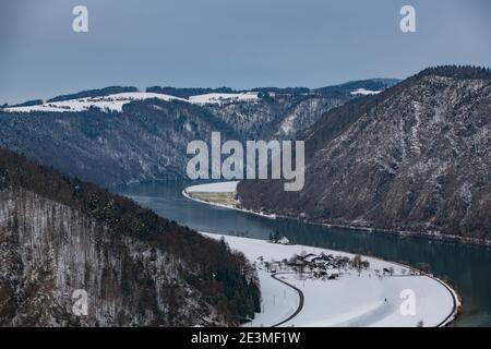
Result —
[{"label": "bluish forested slope just below the snowy plateau, at left beyond the river", "polygon": [[133,101],[121,112],[0,115],[0,145],[63,173],[105,186],[181,178],[187,145],[220,130],[235,132],[207,110],[189,103]]}]

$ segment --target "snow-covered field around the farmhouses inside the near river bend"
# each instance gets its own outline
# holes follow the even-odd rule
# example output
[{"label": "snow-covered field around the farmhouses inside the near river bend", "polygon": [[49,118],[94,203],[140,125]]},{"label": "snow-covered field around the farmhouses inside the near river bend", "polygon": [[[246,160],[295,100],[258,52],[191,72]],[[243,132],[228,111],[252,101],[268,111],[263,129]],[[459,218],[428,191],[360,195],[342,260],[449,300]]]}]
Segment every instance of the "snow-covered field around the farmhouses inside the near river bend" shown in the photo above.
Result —
[{"label": "snow-covered field around the farmhouses inside the near river bend", "polygon": [[[218,239],[218,234],[204,233]],[[241,251],[251,262],[282,261],[294,254],[352,254],[326,249],[282,245],[262,240],[224,237],[233,250]],[[304,296],[301,311],[282,326],[442,326],[453,320],[459,305],[457,294],[447,285],[427,275],[409,275],[409,267],[373,257],[363,257],[370,267],[360,274],[342,270],[336,280],[321,280],[306,274],[300,277],[287,270],[276,270],[276,277],[297,287]],[[375,269],[394,268],[394,275],[379,277]],[[286,272],[283,274],[283,272]],[[299,305],[296,290],[274,279],[264,267],[258,270],[261,281],[262,312],[244,326],[273,326],[288,318]],[[404,275],[403,275],[404,274]],[[406,314],[408,294],[414,294],[415,315]],[[454,306],[455,302],[455,306]]]}]

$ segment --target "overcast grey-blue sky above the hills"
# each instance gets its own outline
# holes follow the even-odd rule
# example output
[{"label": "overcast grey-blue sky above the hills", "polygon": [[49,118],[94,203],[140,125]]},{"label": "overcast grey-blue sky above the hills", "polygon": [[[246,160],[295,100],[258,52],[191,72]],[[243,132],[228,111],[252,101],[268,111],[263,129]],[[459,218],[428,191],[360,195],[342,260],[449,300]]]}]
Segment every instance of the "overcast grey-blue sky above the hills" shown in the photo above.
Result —
[{"label": "overcast grey-blue sky above the hills", "polygon": [[[88,8],[88,33],[72,9]],[[399,29],[403,4],[417,33]],[[320,87],[491,65],[489,0],[0,0],[0,103],[108,85]]]}]

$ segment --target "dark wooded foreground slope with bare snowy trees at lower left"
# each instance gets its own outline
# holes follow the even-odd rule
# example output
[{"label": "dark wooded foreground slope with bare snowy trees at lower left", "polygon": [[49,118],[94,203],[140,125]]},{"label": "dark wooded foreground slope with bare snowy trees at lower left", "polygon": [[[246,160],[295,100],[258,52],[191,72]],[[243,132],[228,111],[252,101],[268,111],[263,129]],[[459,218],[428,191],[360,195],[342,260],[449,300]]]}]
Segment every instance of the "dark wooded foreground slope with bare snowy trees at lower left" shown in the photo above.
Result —
[{"label": "dark wooded foreground slope with bare snowy trees at lower left", "polygon": [[0,231],[0,326],[236,326],[260,308],[225,243],[3,148]]}]

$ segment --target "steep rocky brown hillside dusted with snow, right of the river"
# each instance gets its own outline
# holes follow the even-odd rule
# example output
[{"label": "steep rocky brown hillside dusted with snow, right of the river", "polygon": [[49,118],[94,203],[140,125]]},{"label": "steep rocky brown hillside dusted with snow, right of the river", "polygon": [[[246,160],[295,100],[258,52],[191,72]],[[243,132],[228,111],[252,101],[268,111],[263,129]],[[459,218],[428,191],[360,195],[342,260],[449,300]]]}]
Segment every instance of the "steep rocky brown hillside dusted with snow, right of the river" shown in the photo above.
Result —
[{"label": "steep rocky brown hillside dusted with snow, right of the river", "polygon": [[491,240],[491,73],[439,67],[325,113],[306,185],[244,181],[244,207],[323,224]]}]

